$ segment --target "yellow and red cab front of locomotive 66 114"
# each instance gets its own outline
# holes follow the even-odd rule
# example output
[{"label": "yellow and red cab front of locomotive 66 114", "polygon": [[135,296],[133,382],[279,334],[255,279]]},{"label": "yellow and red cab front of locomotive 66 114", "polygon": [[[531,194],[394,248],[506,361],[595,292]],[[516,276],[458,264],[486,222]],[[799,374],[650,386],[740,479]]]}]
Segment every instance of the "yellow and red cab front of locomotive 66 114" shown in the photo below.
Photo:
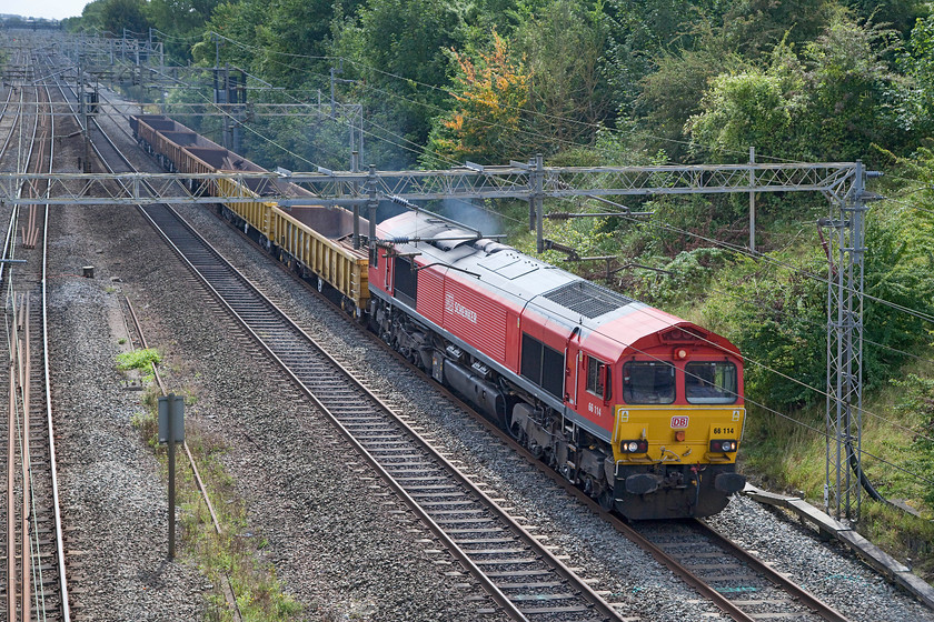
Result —
[{"label": "yellow and red cab front of locomotive 66 114", "polygon": [[742,362],[695,327],[659,338],[614,365],[615,500],[632,519],[708,515],[745,485]]}]

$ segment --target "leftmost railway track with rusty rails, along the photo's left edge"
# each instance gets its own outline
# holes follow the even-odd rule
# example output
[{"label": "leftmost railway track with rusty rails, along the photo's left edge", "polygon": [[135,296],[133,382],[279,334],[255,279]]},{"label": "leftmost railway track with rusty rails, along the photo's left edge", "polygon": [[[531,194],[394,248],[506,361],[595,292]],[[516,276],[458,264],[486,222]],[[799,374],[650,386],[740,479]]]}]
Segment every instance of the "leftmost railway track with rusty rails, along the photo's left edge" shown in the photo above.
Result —
[{"label": "leftmost railway track with rusty rails, along the photo's left edge", "polygon": [[[37,63],[38,64],[38,63]],[[31,66],[30,66],[31,67]],[[24,72],[28,74],[29,72]],[[8,113],[32,126],[28,144],[19,140],[19,170],[51,172],[54,123],[51,98],[39,86],[20,84],[21,108],[31,113]],[[32,101],[29,101],[29,100]],[[12,141],[7,143],[12,146]],[[23,146],[28,150],[23,151]],[[38,149],[33,147],[38,146]],[[38,194],[43,192],[37,189]],[[9,345],[6,378],[9,387],[6,418],[7,525],[3,545],[4,609],[0,619],[70,620],[64,540],[58,501],[54,429],[49,393],[48,335],[46,322],[46,222],[48,207],[41,195],[21,213],[14,205],[3,245],[0,279],[4,291],[6,333]],[[19,241],[19,243],[17,243]]]}]

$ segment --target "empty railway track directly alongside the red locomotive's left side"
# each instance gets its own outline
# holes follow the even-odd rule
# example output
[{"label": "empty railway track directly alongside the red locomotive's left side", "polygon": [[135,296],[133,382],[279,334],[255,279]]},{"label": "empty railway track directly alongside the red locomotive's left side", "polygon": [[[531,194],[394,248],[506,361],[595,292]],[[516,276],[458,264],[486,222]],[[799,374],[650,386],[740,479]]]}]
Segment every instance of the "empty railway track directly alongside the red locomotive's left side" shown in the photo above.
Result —
[{"label": "empty railway track directly alongside the red locomotive's left side", "polygon": [[623,620],[547,546],[259,293],[173,210],[160,204],[140,209],[207,288],[484,586],[498,609],[514,620]]}]

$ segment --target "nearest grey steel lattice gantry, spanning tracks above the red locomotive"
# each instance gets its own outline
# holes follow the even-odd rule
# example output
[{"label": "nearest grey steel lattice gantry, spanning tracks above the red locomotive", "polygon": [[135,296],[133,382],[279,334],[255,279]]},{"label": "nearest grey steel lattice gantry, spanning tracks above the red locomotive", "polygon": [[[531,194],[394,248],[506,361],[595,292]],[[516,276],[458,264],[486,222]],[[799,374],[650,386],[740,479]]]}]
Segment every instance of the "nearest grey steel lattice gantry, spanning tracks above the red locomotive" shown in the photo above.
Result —
[{"label": "nearest grey steel lattice gantry, spanning tracks above the red locomotive", "polygon": [[[875,174],[867,173],[860,162],[573,168],[543,167],[539,159],[529,164],[511,162],[507,167],[468,165],[434,171],[378,171],[370,167],[364,172],[319,169],[318,172],[218,174],[0,173],[0,200],[36,202],[36,199],[17,198],[18,188],[31,187],[37,194],[46,197],[41,202],[49,204],[215,203],[217,199],[208,190],[215,187],[213,180],[227,178],[251,180],[264,200],[285,208],[352,205],[368,207],[375,212],[379,200],[390,198],[521,199],[535,205],[540,218],[541,200],[546,198],[821,192],[831,203],[829,217],[822,224],[834,231],[827,272],[825,505],[838,519],[855,520],[861,501],[864,220],[866,202],[873,198],[865,191],[865,180]],[[284,197],[277,183],[281,181],[308,188],[316,197]],[[48,192],[44,182],[49,183]],[[145,182],[156,188],[158,198]],[[188,182],[200,191],[188,194],[176,182]],[[239,203],[256,198],[244,194],[223,200]]]}]

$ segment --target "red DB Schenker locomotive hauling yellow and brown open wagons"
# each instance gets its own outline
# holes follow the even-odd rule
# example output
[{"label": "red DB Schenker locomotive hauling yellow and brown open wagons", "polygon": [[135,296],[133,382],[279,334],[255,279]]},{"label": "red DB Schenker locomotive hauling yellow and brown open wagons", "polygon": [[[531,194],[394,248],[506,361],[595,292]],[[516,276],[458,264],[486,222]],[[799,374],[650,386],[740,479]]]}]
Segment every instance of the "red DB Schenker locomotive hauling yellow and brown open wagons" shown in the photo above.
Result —
[{"label": "red DB Schenker locomotive hauling yellow and brown open wagons", "polygon": [[[130,121],[169,170],[262,170],[165,117]],[[743,360],[723,337],[429,212],[379,223],[367,254],[341,209],[219,205],[604,509],[706,516],[745,486]]]}]

